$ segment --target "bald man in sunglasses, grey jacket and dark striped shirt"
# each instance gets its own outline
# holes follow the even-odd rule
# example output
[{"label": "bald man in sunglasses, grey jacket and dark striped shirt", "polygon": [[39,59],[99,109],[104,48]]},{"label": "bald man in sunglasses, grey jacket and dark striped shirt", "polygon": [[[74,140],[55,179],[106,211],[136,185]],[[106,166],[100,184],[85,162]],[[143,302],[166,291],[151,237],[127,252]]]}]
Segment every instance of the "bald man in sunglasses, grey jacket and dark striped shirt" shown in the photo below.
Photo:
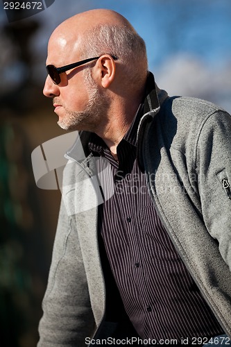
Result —
[{"label": "bald man in sunglasses, grey jacket and dark striped shirt", "polygon": [[60,24],[46,65],[44,95],[79,135],[38,346],[218,346],[231,335],[230,115],[160,90],[144,41],[110,10]]}]

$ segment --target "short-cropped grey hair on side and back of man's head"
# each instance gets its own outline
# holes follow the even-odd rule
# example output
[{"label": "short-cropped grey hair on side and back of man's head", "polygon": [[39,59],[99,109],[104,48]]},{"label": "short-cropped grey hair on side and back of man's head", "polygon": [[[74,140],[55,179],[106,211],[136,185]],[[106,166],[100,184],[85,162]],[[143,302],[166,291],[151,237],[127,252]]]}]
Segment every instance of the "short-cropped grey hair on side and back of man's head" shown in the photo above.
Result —
[{"label": "short-cropped grey hair on side and back of man's head", "polygon": [[101,24],[85,32],[80,42],[83,57],[117,56],[132,84],[144,81],[148,72],[146,44],[128,26]]}]

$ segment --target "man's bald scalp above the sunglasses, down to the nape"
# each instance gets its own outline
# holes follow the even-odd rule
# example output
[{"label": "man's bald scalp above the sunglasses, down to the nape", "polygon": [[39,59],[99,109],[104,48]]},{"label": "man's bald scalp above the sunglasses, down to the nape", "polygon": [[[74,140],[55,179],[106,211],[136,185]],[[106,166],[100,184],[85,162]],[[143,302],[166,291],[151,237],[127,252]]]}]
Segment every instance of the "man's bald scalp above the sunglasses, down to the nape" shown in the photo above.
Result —
[{"label": "man's bald scalp above the sunglasses, down to the nape", "polygon": [[[66,64],[103,54],[118,57],[121,73],[129,85],[146,80],[147,58],[144,40],[118,12],[105,9],[78,13],[62,22],[49,40],[52,51],[62,51]],[[52,62],[50,62],[52,63]],[[132,82],[133,81],[133,82]]]}]

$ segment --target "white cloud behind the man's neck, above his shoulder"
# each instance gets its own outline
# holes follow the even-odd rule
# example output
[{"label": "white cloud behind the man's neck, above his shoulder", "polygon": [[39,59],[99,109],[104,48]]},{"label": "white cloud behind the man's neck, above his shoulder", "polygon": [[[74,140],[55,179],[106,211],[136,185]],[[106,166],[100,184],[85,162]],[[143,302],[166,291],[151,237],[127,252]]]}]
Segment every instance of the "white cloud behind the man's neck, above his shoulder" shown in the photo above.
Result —
[{"label": "white cloud behind the man's neck, above his shoulder", "polygon": [[155,71],[155,79],[157,85],[166,89],[169,95],[206,99],[231,112],[230,64],[214,67],[205,65],[195,56],[171,56]]}]

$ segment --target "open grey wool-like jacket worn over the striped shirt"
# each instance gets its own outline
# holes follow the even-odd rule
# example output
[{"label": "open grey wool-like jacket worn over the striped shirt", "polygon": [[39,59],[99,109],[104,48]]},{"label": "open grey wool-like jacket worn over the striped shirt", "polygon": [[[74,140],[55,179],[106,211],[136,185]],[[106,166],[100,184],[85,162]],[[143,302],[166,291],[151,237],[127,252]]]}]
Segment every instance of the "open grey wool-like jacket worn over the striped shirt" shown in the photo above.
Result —
[{"label": "open grey wool-like jacket worn over the striped shirt", "polygon": [[[231,336],[231,117],[207,101],[169,97],[152,74],[148,80],[139,166],[173,244]],[[67,157],[39,347],[86,346],[97,328],[99,336],[114,329],[104,319],[108,293],[97,235],[97,206],[110,196],[103,196],[87,153],[87,133]]]}]

